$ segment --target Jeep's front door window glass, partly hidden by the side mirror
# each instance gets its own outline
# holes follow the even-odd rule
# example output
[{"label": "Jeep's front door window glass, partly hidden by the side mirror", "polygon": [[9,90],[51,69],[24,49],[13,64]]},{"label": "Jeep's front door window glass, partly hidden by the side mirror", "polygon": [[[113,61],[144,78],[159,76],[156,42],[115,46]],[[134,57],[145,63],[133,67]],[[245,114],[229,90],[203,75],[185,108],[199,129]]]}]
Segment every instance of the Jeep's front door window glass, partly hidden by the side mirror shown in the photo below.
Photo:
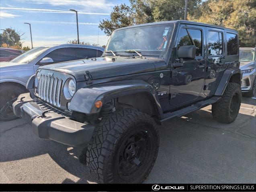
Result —
[{"label": "Jeep's front door window glass, partly hidden by the side mirror", "polygon": [[178,48],[180,46],[186,46],[186,45],[195,45],[197,47],[196,56],[202,56],[201,30],[182,28],[180,31],[180,40],[178,42]]}]

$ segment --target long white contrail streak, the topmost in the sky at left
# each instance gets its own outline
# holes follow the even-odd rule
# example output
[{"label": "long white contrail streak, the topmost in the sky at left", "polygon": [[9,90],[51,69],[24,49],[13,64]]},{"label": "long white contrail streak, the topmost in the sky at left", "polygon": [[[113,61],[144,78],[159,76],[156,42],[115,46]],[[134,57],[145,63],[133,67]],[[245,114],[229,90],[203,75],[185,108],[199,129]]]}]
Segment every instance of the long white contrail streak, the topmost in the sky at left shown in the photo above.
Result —
[{"label": "long white contrail streak, the topmost in the sky at left", "polygon": [[[30,11],[30,12],[43,12],[43,13],[72,13],[68,10],[55,10],[55,9],[37,9],[37,8],[16,8],[16,7],[0,7],[2,10],[18,10],[18,11]],[[92,12],[80,12],[79,14],[91,14],[91,15],[109,15],[109,13],[92,13]],[[2,15],[2,12],[1,12]]]}]

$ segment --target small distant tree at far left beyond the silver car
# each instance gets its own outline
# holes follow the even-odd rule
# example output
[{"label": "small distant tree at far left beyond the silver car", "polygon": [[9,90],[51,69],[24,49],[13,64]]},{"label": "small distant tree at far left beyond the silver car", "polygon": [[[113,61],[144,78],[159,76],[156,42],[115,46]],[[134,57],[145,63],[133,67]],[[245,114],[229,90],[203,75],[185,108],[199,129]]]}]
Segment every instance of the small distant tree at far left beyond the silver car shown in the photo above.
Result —
[{"label": "small distant tree at far left beyond the silver car", "polygon": [[[15,30],[12,28],[6,28],[5,30],[7,33],[8,46],[9,47],[15,46],[15,47],[21,48],[22,47],[21,40],[24,40],[21,37],[25,34],[25,32]],[[0,46],[6,43],[6,33],[3,31],[0,34]]]}]

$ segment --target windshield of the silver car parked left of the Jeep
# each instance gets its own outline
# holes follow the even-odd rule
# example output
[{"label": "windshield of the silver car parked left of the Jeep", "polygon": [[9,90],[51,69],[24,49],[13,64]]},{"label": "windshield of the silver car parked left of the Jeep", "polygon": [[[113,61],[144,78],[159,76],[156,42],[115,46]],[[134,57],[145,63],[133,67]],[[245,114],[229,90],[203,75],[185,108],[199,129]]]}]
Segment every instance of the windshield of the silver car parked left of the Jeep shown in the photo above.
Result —
[{"label": "windshield of the silver car parked left of the Jeep", "polygon": [[18,57],[14,58],[10,62],[14,62],[14,63],[29,63],[29,62],[31,62],[33,59],[35,59],[37,56],[39,56],[42,52],[44,52],[47,49],[49,49],[49,47],[36,47],[36,48],[33,48],[33,49],[31,49],[31,50],[29,50],[29,51],[19,55]]}]

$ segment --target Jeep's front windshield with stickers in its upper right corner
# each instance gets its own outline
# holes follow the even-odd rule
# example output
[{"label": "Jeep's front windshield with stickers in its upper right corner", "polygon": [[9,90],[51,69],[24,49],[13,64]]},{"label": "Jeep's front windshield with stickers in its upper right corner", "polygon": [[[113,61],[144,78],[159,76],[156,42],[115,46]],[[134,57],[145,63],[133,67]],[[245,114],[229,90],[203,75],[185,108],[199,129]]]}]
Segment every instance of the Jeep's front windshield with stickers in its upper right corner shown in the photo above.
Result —
[{"label": "Jeep's front windshield with stickers in its upper right corner", "polygon": [[173,26],[173,24],[159,24],[117,30],[111,35],[105,50],[111,50],[117,54],[127,50],[136,50],[142,55],[163,54],[170,40]]}]

